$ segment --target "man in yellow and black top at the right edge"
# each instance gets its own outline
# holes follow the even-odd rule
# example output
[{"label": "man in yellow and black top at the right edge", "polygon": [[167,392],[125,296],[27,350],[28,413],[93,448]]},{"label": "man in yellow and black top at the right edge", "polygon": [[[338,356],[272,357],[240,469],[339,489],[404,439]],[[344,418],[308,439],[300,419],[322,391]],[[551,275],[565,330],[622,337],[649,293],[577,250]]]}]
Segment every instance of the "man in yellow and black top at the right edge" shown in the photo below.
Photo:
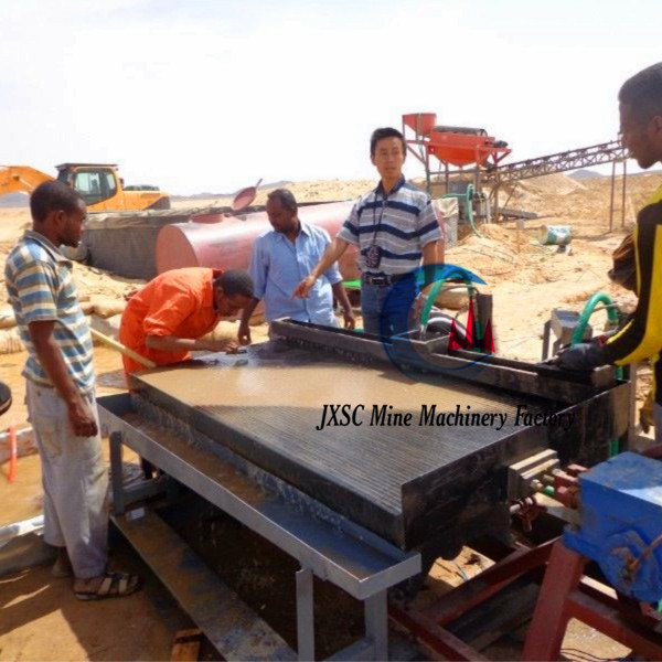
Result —
[{"label": "man in yellow and black top at the right edge", "polygon": [[[662,62],[632,76],[621,87],[620,134],[623,146],[648,169],[662,161]],[[567,370],[590,370],[613,363],[654,362],[655,440],[662,444],[662,186],[637,216],[634,255],[639,303],[632,319],[604,345],[581,343],[557,362]]]}]

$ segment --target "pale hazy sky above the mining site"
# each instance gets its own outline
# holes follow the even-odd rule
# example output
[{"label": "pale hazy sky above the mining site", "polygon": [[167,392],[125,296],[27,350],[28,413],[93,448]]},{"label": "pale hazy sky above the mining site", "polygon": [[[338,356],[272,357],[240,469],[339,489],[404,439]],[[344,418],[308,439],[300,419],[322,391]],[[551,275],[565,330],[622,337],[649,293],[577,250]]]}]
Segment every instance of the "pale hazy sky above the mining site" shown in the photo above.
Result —
[{"label": "pale hazy sky above the mining site", "polygon": [[[660,0],[0,0],[0,163],[118,162],[171,193],[373,178],[403,113],[511,160],[616,138]],[[423,174],[414,159],[408,177]]]}]

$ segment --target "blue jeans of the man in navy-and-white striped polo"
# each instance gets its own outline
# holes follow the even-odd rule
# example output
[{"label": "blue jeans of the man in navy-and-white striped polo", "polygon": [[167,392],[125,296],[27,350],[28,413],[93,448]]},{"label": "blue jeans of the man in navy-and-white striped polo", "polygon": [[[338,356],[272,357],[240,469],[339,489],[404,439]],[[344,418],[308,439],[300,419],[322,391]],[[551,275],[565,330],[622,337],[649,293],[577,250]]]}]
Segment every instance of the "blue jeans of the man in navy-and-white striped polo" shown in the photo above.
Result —
[{"label": "blue jeans of the man in navy-and-white striped polo", "polygon": [[416,298],[414,279],[398,280],[393,286],[361,284],[363,331],[391,338],[408,330],[409,311]]}]

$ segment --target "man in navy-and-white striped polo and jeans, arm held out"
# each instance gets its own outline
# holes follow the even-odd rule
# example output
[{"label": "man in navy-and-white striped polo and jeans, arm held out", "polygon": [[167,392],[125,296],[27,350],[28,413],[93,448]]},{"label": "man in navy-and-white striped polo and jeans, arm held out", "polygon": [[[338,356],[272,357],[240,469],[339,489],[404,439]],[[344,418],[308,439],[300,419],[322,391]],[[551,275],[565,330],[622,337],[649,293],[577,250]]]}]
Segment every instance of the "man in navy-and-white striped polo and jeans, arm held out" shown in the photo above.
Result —
[{"label": "man in navy-and-white striped polo and jeans, arm held out", "polygon": [[444,261],[444,235],[428,194],[405,182],[403,135],[393,128],[376,129],[370,156],[381,175],[377,188],[354,205],[322,259],[297,286],[296,295],[308,296],[350,244],[359,246],[363,330],[387,337],[407,330],[415,296],[410,274],[421,263]]}]

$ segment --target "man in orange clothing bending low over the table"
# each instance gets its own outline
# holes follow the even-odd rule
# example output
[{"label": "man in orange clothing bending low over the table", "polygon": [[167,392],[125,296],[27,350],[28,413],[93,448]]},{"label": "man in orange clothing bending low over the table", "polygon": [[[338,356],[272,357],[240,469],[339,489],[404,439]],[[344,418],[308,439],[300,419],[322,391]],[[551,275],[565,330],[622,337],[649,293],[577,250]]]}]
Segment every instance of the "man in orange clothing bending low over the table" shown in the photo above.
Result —
[{"label": "man in orange clothing bending low over the table", "polygon": [[[236,317],[253,299],[247,271],[190,267],[164,271],[128,301],[119,341],[157,365],[178,363],[191,350],[235,351],[232,340],[204,340],[222,318]],[[122,356],[128,374],[145,370]]]}]

